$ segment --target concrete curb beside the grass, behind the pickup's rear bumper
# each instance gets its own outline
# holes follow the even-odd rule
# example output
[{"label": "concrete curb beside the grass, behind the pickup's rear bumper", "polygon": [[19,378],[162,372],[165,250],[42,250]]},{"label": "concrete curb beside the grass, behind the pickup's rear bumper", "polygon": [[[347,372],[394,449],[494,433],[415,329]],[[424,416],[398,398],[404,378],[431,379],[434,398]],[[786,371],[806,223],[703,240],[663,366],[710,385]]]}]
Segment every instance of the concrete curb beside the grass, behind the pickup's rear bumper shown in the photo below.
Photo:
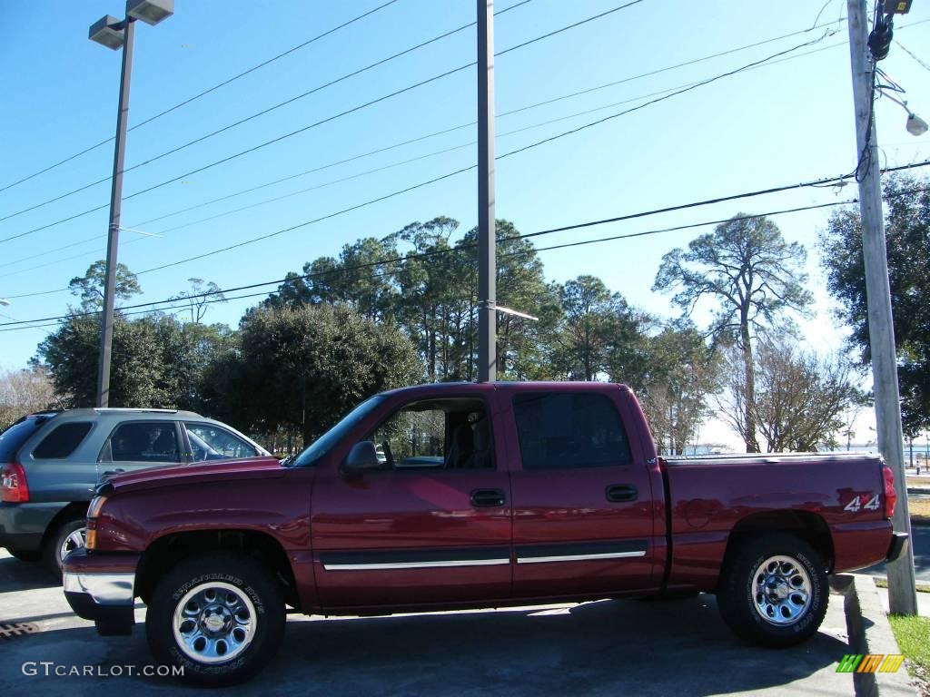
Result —
[{"label": "concrete curb beside the grass, behind the pickup's rear bumper", "polygon": [[[871,576],[847,573],[830,579],[833,591],[844,596],[846,631],[853,653],[900,653]],[[854,673],[857,697],[915,697],[917,689],[902,665],[897,673]]]}]

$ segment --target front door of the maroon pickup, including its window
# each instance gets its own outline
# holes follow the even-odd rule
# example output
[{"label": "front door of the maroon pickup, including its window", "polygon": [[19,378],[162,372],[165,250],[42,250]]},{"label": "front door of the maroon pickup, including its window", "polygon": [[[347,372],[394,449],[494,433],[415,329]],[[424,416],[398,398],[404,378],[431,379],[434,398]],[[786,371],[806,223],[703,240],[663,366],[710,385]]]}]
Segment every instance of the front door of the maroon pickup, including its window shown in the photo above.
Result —
[{"label": "front door of the maroon pickup, including its window", "polygon": [[474,394],[388,401],[350,439],[369,467],[347,470],[340,456],[320,468],[311,533],[323,607],[509,597],[510,483],[493,410]]}]

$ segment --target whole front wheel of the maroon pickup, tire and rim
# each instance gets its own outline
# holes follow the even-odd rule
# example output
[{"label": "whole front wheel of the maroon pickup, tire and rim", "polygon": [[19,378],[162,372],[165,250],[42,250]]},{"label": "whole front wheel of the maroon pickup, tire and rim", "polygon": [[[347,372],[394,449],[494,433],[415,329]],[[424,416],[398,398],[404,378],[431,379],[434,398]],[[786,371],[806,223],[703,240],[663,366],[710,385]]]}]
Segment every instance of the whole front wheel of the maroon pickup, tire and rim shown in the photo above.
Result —
[{"label": "whole front wheel of the maroon pickup, tire and rim", "polygon": [[234,554],[180,562],[155,586],[145,618],[157,662],[183,668],[184,682],[206,687],[259,673],[284,628],[285,601],[272,573]]}]

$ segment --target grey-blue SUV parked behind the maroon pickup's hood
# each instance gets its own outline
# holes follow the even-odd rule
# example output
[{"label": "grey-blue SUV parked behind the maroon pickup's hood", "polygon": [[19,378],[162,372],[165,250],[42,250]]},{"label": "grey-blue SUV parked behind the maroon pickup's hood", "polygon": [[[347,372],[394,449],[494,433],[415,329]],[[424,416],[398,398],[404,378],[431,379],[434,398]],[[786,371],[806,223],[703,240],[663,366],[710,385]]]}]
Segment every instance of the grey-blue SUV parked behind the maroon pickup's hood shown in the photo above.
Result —
[{"label": "grey-blue SUV parked behind the maroon pickup's hood", "polygon": [[87,502],[101,477],[146,467],[268,456],[219,421],[170,409],[72,409],[24,416],[0,433],[0,547],[61,559],[84,546]]}]

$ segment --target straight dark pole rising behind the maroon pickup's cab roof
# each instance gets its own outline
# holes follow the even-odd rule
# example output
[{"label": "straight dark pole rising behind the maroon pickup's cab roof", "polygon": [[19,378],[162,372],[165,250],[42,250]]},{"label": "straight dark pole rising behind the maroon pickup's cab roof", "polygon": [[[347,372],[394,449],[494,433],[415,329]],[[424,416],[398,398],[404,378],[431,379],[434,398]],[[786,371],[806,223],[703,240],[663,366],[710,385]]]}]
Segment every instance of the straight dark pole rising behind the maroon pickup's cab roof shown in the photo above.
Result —
[{"label": "straight dark pole rising behind the maroon pickup's cab roof", "polygon": [[498,376],[494,219],[494,0],[478,7],[478,382]]}]

